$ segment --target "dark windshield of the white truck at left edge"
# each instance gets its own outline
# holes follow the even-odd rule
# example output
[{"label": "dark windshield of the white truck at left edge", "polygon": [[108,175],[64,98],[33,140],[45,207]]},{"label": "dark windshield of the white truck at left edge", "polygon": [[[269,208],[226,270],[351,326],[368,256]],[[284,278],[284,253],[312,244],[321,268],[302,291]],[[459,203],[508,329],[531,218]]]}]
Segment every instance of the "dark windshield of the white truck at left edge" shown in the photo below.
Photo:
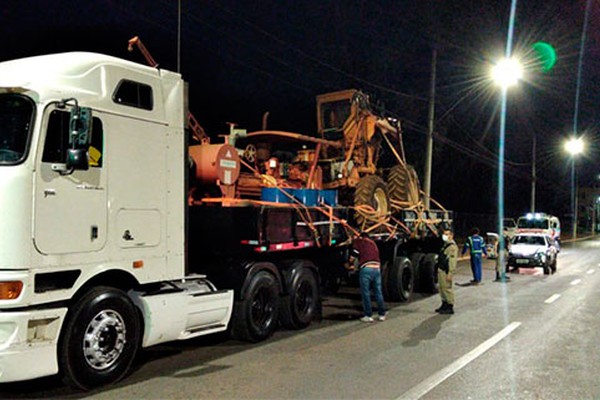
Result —
[{"label": "dark windshield of the white truck at left edge", "polygon": [[27,156],[33,102],[19,94],[0,94],[0,166],[14,165]]}]

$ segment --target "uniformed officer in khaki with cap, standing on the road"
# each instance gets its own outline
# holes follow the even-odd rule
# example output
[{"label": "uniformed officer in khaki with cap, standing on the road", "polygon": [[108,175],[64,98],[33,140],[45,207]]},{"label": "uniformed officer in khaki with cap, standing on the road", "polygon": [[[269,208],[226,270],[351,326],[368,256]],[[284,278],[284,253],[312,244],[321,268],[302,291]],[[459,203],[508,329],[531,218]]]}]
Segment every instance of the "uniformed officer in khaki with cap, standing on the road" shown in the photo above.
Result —
[{"label": "uniformed officer in khaki with cap, standing on the road", "polygon": [[454,234],[449,229],[443,232],[442,239],[444,240],[444,246],[440,251],[437,269],[442,305],[435,312],[440,314],[454,314],[452,278],[456,272],[456,263],[458,262],[458,245],[454,241]]}]

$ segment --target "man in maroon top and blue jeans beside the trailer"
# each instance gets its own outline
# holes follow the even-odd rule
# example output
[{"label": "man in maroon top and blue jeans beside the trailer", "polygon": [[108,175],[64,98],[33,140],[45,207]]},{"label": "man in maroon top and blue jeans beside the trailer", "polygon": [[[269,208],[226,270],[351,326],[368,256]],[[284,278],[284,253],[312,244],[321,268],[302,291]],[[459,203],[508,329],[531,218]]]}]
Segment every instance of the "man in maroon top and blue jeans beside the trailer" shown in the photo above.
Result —
[{"label": "man in maroon top and blue jeans beside the trailer", "polygon": [[360,284],[360,296],[362,298],[365,315],[360,319],[362,322],[373,322],[373,309],[371,307],[371,288],[375,292],[377,300],[377,314],[379,321],[385,321],[385,304],[381,290],[381,260],[377,244],[369,238],[366,232],[362,232],[352,243],[350,253],[350,264],[358,259],[358,281]]}]

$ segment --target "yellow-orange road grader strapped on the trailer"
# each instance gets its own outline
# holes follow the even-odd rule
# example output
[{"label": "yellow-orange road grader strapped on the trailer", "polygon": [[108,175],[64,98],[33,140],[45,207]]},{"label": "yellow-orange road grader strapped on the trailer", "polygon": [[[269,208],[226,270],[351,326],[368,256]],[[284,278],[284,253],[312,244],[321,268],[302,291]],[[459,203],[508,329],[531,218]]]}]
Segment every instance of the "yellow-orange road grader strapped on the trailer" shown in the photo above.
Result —
[{"label": "yellow-orange road grader strapped on the trailer", "polygon": [[[362,227],[397,209],[422,208],[400,121],[375,113],[365,93],[350,89],[317,96],[314,137],[267,130],[265,121],[263,130],[236,141],[251,170],[238,181],[241,197],[258,196],[265,186],[335,189],[342,205],[355,207]],[[384,151],[392,160],[385,168]]]}]

